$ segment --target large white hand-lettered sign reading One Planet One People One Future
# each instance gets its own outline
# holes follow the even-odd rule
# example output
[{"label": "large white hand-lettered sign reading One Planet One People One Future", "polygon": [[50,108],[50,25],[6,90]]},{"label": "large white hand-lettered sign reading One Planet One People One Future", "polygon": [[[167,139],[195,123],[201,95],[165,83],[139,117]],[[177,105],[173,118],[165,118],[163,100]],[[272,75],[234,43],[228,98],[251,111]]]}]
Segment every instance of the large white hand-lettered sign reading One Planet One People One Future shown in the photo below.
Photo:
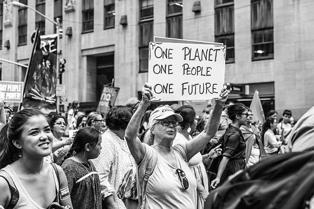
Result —
[{"label": "large white hand-lettered sign reading One Planet One People One Future", "polygon": [[224,86],[226,46],[149,43],[148,82],[162,101],[208,100]]}]

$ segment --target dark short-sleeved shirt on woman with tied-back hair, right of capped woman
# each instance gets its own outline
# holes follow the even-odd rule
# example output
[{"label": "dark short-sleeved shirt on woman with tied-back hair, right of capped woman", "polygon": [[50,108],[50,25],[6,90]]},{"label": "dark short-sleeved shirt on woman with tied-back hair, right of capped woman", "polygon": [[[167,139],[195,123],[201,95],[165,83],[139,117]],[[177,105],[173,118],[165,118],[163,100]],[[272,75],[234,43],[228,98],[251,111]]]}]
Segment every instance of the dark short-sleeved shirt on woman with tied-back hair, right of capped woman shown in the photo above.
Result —
[{"label": "dark short-sleeved shirt on woman with tied-back hair, right of capped woman", "polygon": [[229,159],[245,159],[245,140],[242,132],[237,127],[229,124],[225,133],[225,151],[223,156]]}]

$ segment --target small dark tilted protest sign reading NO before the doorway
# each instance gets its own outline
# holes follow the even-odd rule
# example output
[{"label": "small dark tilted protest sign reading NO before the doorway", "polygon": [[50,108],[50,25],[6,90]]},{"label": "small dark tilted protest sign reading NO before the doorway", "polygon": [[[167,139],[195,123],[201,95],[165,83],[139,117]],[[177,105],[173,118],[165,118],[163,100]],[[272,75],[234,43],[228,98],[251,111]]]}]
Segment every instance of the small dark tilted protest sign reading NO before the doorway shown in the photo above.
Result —
[{"label": "small dark tilted protest sign reading NO before the doorway", "polygon": [[115,99],[119,93],[120,88],[109,87],[104,85],[103,93],[99,100],[97,111],[99,112],[108,112],[110,106],[114,106]]}]

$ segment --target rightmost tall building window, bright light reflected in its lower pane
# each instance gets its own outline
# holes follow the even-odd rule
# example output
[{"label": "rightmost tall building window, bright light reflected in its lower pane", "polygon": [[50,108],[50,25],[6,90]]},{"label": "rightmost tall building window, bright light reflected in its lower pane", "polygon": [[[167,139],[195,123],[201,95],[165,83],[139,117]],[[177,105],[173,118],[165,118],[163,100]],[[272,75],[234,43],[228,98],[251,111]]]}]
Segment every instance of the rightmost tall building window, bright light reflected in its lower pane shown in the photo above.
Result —
[{"label": "rightmost tall building window, bright light reflected in its lower pane", "polygon": [[251,1],[252,60],[273,58],[272,0]]}]

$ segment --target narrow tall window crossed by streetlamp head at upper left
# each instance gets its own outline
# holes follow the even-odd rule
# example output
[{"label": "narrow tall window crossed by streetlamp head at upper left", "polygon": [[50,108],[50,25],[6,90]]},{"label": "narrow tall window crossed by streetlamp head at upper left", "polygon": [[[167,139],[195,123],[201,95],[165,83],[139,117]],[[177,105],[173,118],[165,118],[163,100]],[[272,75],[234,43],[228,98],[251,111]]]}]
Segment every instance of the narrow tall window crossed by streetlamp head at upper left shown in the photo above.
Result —
[{"label": "narrow tall window crossed by streetlamp head at upper left", "polygon": [[[27,0],[19,0],[27,5]],[[18,8],[18,46],[27,44],[27,8]]]}]

